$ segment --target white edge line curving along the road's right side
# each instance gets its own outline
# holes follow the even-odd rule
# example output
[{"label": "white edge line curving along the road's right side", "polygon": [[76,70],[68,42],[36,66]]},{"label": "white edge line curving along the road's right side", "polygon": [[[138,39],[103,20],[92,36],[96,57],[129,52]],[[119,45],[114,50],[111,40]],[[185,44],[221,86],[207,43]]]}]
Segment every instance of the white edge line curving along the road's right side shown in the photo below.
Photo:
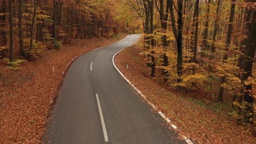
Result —
[{"label": "white edge line curving along the road's right side", "polygon": [[[125,48],[124,48],[125,49]],[[122,50],[124,50],[122,49]],[[120,50],[119,52],[121,52],[122,50]],[[117,52],[113,58],[112,58],[112,62],[113,62],[113,65],[115,66],[115,69],[120,73],[120,75],[141,95],[142,98],[144,98],[149,105],[152,106],[152,108],[156,111],[156,107],[154,106],[154,104],[152,104],[150,101],[147,100],[147,98],[141,93],[140,90],[138,90],[138,88],[136,88],[134,85],[132,85],[132,83],[125,77],[125,75],[122,74],[122,72],[117,68],[117,66],[115,65],[115,56],[119,53]],[[172,128],[174,129],[178,129],[176,125],[174,124],[171,124],[171,120],[169,118],[167,118],[161,111],[158,111],[158,114],[161,115],[162,118],[164,118],[164,120],[171,125]],[[187,137],[185,137],[184,135],[182,135],[183,139],[187,142],[187,144],[193,144],[192,141],[190,141],[190,139],[188,139]]]}]

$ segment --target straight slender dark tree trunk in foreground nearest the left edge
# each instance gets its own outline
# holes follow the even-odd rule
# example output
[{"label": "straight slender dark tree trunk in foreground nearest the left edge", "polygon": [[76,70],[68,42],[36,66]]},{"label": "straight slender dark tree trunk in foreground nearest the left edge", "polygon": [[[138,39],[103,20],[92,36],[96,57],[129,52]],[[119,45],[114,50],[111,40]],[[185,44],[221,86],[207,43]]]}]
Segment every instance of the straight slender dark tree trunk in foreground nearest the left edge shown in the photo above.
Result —
[{"label": "straight slender dark tree trunk in foreground nearest the left edge", "polygon": [[8,0],[9,13],[10,13],[10,62],[13,62],[13,1]]}]

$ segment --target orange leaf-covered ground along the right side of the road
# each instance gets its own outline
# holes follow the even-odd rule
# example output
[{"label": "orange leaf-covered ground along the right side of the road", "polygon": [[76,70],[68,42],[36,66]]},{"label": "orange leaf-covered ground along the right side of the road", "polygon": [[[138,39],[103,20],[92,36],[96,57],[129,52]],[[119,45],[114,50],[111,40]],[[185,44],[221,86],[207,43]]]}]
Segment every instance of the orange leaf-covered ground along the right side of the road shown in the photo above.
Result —
[{"label": "orange leaf-covered ground along the right side of the road", "polygon": [[[158,77],[152,78],[146,57],[139,54],[143,50],[139,44],[130,46],[115,57],[115,63],[147,100],[177,126],[180,136],[185,135],[198,144],[256,143],[254,134],[236,126],[236,120],[228,114],[226,107],[231,105],[200,99],[198,95],[203,95],[200,92],[193,92],[197,97],[187,96],[187,92],[177,93],[161,83]],[[128,70],[126,62],[129,63]]]}]

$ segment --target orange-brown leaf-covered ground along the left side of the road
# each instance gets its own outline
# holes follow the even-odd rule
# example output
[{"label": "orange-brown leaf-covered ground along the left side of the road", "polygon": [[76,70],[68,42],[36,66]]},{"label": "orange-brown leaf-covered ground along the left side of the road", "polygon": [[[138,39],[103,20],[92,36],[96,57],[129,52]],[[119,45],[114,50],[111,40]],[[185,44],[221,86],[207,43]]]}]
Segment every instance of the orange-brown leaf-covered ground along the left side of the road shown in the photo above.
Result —
[{"label": "orange-brown leaf-covered ground along the left side of the road", "polygon": [[[41,143],[67,65],[76,56],[123,39],[76,40],[59,50],[44,50],[39,58],[7,69],[0,59],[0,144]],[[53,72],[54,65],[54,72]]]}]

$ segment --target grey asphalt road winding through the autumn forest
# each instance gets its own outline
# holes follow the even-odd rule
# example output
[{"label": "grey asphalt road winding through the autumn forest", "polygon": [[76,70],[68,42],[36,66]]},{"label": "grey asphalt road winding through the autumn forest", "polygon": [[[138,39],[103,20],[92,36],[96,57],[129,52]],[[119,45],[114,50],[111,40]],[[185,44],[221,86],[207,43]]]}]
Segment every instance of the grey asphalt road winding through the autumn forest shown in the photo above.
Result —
[{"label": "grey asphalt road winding through the autumn forest", "polygon": [[139,37],[129,35],[72,63],[44,132],[44,143],[185,143],[113,65],[113,56]]}]

